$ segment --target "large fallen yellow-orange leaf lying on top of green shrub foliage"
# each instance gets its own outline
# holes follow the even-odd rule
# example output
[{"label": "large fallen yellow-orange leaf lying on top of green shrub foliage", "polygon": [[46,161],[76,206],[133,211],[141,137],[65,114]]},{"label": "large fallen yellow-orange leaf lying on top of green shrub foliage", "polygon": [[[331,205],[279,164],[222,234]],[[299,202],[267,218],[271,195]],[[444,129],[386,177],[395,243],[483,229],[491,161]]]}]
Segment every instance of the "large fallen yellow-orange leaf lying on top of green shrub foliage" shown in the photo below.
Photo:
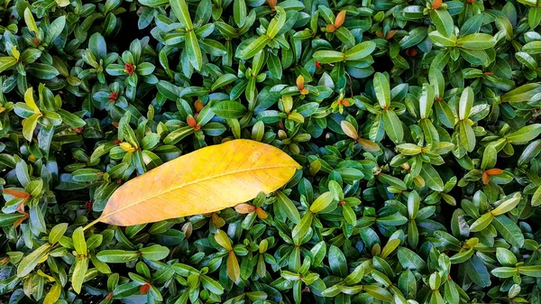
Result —
[{"label": "large fallen yellow-orange leaf lying on top of green shrub foliage", "polygon": [[133,226],[215,212],[279,189],[300,168],[288,154],[265,143],[213,145],[126,182],[97,220]]}]

